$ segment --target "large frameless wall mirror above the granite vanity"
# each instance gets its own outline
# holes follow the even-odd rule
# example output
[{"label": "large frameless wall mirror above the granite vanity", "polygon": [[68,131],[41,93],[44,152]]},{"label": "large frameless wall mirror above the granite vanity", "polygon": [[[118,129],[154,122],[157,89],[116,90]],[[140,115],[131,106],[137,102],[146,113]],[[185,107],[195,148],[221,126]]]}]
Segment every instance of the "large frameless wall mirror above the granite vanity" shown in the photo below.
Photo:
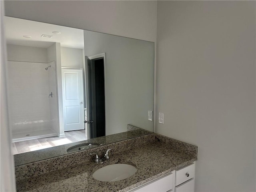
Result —
[{"label": "large frameless wall mirror above the granite vanity", "polygon": [[15,156],[154,131],[154,42],[7,16],[5,26]]}]

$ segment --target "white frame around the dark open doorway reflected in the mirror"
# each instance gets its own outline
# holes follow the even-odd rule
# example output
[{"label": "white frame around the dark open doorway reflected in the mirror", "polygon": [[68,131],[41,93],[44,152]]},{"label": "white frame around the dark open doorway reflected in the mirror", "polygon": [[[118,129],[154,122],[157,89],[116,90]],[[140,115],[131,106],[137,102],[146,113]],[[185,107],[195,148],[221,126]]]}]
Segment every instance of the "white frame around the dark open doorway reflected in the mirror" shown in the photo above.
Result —
[{"label": "white frame around the dark open doorway reflected in the mirror", "polygon": [[[105,135],[106,135],[106,132],[107,132],[106,53],[104,52],[104,53],[100,53],[100,54],[96,54],[96,55],[92,55],[92,56],[87,56],[87,57],[91,61],[103,58],[103,64],[104,64],[104,94],[105,94]],[[87,97],[87,94],[86,94],[86,97]],[[87,108],[87,106],[86,106],[86,108]],[[88,116],[87,116],[87,118],[88,118]],[[89,117],[89,118],[92,118],[92,117]],[[90,135],[90,132],[88,132],[88,135]]]}]

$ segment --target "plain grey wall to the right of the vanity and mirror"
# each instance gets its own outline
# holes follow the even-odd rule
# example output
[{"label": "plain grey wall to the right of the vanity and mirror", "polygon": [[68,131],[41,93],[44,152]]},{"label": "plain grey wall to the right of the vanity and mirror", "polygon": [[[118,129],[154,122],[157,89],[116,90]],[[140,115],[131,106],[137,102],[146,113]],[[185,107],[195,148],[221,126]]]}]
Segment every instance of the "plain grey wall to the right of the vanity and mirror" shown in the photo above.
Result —
[{"label": "plain grey wall to the right of the vanity and mirror", "polygon": [[255,191],[255,1],[158,1],[156,132],[198,146],[196,191]]}]

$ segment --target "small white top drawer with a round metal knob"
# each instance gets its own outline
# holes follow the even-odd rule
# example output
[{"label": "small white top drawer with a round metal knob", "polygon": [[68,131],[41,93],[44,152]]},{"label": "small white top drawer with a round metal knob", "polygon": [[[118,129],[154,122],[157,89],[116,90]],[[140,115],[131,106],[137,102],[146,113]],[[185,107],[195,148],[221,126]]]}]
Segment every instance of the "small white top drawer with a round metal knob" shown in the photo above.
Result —
[{"label": "small white top drawer with a round metal knob", "polygon": [[194,176],[195,176],[194,163],[176,170],[176,179],[175,179],[176,186],[178,186],[179,184],[182,184],[187,180],[190,180],[191,178],[194,178]]}]

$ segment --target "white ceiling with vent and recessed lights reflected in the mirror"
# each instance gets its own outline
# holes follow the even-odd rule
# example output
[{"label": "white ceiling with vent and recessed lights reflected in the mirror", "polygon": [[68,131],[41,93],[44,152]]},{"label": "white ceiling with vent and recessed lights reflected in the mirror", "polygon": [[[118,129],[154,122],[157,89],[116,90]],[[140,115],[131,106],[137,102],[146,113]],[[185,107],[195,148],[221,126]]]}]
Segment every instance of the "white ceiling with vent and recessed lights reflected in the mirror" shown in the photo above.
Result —
[{"label": "white ceiling with vent and recessed lights reflected in the mirror", "polygon": [[[53,42],[62,47],[84,49],[84,30],[48,23],[5,17],[5,36],[7,44],[48,48]],[[53,34],[58,31],[61,34]],[[42,34],[52,38],[41,37]],[[24,38],[31,36],[32,38]]]}]

